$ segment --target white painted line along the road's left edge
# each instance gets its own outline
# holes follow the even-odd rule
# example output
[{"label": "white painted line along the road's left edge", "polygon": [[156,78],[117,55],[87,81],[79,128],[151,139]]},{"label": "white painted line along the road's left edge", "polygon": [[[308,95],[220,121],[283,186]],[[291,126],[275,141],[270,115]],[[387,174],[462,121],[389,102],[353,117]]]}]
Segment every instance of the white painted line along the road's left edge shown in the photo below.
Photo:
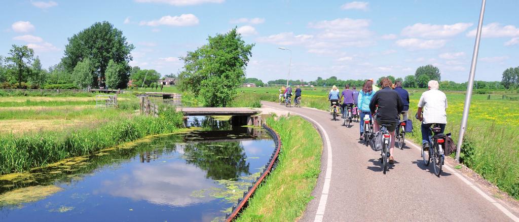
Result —
[{"label": "white painted line along the road's left edge", "polygon": [[[278,109],[276,107],[265,105],[269,108]],[[322,110],[321,110],[322,111]],[[325,111],[324,111],[325,112]],[[323,190],[321,192],[321,199],[319,200],[319,207],[317,208],[316,217],[313,220],[314,222],[320,222],[324,218],[324,210],[326,209],[326,202],[328,200],[328,193],[330,191],[330,183],[332,181],[332,144],[330,142],[330,137],[328,136],[328,133],[326,133],[326,130],[317,122],[316,120],[313,120],[312,118],[305,116],[303,114],[299,114],[294,112],[296,115],[302,116],[303,118],[312,121],[316,124],[317,127],[319,127],[320,131],[324,135],[324,140],[326,141],[326,151],[327,151],[327,161],[326,161],[326,173],[324,178],[324,185]],[[328,112],[325,112],[328,113]]]}]

